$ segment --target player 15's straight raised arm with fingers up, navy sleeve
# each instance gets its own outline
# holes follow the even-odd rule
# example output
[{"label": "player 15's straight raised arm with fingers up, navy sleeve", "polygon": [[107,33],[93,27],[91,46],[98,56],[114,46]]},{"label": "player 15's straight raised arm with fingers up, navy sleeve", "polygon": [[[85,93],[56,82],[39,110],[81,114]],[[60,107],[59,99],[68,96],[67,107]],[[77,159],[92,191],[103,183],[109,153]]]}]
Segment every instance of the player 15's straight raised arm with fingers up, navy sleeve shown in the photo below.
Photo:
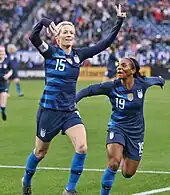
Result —
[{"label": "player 15's straight raised arm with fingers up, navy sleeve", "polygon": [[121,11],[121,5],[119,5],[119,8],[116,7],[116,12],[118,19],[110,34],[105,39],[98,42],[96,45],[92,47],[85,47],[79,50],[78,53],[81,62],[107,49],[113,43],[123,24],[123,19],[126,17],[126,13]]}]

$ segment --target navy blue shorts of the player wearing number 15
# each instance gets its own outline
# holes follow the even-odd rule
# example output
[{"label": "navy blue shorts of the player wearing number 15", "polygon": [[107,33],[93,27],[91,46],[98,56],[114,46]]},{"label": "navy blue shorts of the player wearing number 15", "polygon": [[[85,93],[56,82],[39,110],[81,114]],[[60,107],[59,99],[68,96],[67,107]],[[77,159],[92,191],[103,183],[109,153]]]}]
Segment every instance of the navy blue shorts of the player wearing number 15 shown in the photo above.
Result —
[{"label": "navy blue shorts of the player wearing number 15", "polygon": [[37,112],[37,137],[50,142],[61,130],[62,134],[70,127],[83,124],[77,110],[65,112],[39,107]]}]

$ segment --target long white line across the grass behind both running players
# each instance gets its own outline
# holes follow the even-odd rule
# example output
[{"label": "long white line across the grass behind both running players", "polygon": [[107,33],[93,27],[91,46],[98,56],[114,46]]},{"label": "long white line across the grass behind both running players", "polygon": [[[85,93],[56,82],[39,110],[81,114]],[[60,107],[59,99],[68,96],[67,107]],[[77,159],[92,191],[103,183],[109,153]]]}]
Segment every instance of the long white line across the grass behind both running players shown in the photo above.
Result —
[{"label": "long white line across the grass behind both running players", "polygon": [[[11,165],[0,165],[0,168],[6,169],[25,169],[25,166],[11,166]],[[62,167],[38,167],[39,170],[57,170],[57,171],[69,171],[70,168],[62,168]],[[84,171],[89,172],[104,172],[105,169],[84,169]],[[121,170],[118,170],[121,172]],[[146,173],[146,174],[167,174],[170,175],[170,171],[140,171],[138,170],[137,173]]]}]

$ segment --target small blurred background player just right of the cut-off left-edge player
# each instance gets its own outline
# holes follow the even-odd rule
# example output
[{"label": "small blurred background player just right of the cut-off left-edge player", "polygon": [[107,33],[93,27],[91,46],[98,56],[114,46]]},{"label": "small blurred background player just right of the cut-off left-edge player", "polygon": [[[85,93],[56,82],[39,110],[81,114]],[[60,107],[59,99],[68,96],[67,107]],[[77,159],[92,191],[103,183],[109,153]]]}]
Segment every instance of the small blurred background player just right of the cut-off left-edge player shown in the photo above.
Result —
[{"label": "small blurred background player just right of the cut-off left-edge player", "polygon": [[7,46],[8,58],[10,60],[11,67],[12,67],[12,70],[13,70],[13,73],[12,73],[12,75],[9,78],[9,81],[8,81],[8,91],[9,91],[11,81],[13,80],[14,83],[16,84],[16,92],[17,92],[18,96],[22,97],[22,96],[24,96],[24,94],[22,93],[21,86],[20,86],[20,78],[19,78],[19,75],[18,75],[19,61],[16,58],[16,51],[17,51],[17,48],[16,48],[15,45],[9,44]]}]

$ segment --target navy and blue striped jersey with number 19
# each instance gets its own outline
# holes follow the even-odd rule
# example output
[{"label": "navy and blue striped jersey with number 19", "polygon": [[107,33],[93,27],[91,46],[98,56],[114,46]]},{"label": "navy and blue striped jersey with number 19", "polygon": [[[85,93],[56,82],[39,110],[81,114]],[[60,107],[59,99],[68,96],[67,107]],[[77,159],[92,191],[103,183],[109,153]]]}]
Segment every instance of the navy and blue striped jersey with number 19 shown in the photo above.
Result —
[{"label": "navy and blue striped jersey with number 19", "polygon": [[76,101],[87,96],[107,95],[112,104],[112,115],[108,128],[125,131],[132,138],[137,139],[144,133],[144,96],[147,88],[152,85],[162,87],[164,80],[161,77],[137,77],[132,89],[128,90],[120,79],[116,79],[82,89],[77,94]]}]

